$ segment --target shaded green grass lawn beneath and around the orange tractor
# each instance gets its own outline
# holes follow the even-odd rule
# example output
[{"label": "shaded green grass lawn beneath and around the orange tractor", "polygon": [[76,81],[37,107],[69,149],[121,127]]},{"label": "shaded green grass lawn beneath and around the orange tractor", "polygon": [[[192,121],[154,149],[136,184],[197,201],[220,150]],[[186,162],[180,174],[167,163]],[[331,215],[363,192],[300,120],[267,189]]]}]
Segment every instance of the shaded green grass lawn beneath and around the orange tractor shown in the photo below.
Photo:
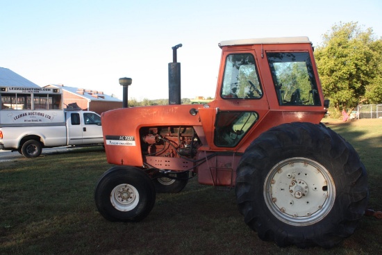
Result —
[{"label": "shaded green grass lawn beneath and around the orange tractor", "polygon": [[[369,174],[368,207],[382,211],[382,120],[327,125],[359,152]],[[197,179],[178,194],[157,194],[140,223],[108,222],[94,205],[94,188],[110,167],[101,147],[0,163],[0,254],[380,253],[382,220],[374,217],[363,217],[333,249],[263,242],[244,224],[233,190]]]}]

